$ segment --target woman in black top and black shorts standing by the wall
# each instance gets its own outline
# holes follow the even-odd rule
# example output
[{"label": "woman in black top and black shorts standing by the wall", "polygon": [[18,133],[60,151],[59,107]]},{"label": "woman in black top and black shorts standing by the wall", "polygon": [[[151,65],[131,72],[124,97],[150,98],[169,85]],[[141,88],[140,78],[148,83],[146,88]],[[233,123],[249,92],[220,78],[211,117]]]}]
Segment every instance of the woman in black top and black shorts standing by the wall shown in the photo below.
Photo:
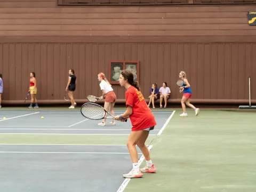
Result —
[{"label": "woman in black top and black shorts standing by the wall", "polygon": [[74,69],[69,69],[68,75],[69,77],[68,77],[68,83],[66,86],[66,91],[68,91],[68,96],[71,101],[71,106],[69,107],[69,109],[74,109],[76,105],[76,102],[73,96],[73,92],[76,90],[76,76],[75,76]]}]

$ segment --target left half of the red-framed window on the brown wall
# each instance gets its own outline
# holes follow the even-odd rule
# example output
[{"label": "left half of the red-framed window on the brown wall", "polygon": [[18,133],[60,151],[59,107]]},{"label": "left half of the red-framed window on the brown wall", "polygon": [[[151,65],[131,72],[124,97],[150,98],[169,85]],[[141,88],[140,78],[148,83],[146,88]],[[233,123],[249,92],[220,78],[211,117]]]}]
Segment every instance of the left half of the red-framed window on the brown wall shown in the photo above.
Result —
[{"label": "left half of the red-framed window on the brown wall", "polygon": [[119,76],[121,71],[124,70],[123,61],[110,61],[109,79],[111,84],[119,84]]}]

